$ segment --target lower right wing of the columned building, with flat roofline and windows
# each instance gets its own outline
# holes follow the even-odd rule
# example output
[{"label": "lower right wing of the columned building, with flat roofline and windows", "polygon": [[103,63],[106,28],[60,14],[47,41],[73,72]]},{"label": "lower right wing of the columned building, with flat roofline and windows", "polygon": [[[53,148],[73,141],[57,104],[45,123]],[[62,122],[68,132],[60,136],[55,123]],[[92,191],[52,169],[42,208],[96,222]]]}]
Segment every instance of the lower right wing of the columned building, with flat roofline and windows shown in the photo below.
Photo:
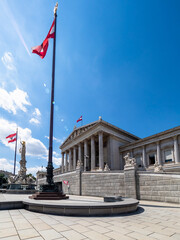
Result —
[{"label": "lower right wing of the columned building, with flat roofline and windows", "polygon": [[120,159],[130,153],[139,170],[180,171],[180,127],[120,147]]}]

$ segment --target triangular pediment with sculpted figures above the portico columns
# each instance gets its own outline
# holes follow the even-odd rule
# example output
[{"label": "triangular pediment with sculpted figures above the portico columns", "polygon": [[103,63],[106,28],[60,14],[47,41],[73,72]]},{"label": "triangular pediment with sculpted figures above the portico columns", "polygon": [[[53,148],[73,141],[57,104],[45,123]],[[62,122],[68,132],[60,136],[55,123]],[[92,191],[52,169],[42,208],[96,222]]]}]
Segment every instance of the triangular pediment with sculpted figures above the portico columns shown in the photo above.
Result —
[{"label": "triangular pediment with sculpted figures above the portico columns", "polygon": [[84,134],[85,132],[87,132],[90,128],[92,128],[94,125],[96,125],[98,123],[98,121],[87,124],[85,126],[79,127],[79,128],[74,128],[73,132],[66,138],[66,140],[63,142],[63,144],[61,145],[61,147],[73,140],[75,140],[77,137],[79,137],[80,135]]}]

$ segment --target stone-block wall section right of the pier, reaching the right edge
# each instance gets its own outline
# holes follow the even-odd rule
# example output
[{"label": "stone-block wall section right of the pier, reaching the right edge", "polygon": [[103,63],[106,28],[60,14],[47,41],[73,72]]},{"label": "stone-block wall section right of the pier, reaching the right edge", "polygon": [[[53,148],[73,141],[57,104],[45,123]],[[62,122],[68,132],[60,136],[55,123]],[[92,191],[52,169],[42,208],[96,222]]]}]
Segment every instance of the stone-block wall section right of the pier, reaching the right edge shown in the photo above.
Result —
[{"label": "stone-block wall section right of the pier, reaching the right edge", "polygon": [[138,173],[137,197],[140,200],[180,203],[180,175]]}]

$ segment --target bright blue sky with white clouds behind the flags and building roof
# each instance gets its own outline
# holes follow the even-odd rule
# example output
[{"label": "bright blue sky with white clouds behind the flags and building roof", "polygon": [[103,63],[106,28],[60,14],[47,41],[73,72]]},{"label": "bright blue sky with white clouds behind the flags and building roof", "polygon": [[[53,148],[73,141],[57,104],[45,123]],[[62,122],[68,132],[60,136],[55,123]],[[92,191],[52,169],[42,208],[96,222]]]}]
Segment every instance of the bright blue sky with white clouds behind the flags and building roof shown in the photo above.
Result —
[{"label": "bright blue sky with white clouds behind the flags and building roof", "polygon": [[[47,166],[53,40],[44,59],[31,47],[46,37],[55,3],[0,1],[0,169],[13,170],[5,137],[16,127],[28,172]],[[179,125],[179,12],[179,0],[59,1],[54,167],[81,115],[141,138]]]}]

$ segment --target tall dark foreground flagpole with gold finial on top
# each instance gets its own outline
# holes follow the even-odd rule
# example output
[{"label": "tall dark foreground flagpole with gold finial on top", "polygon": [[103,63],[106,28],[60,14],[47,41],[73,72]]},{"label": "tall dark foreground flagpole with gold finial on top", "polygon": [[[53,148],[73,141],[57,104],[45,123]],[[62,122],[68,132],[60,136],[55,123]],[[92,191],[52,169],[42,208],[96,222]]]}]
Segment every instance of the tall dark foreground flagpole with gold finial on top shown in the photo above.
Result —
[{"label": "tall dark foreground flagpole with gold finial on top", "polygon": [[[52,62],[52,83],[51,83],[51,112],[50,112],[50,129],[49,129],[49,156],[48,156],[48,165],[47,165],[47,183],[49,185],[48,190],[54,190],[54,181],[53,181],[53,162],[52,162],[52,153],[53,153],[53,118],[54,118],[54,80],[55,80],[55,54],[56,54],[56,18],[57,18],[57,8],[58,3],[54,8],[54,42],[53,42],[53,62]],[[51,186],[51,187],[50,187]]]}]

